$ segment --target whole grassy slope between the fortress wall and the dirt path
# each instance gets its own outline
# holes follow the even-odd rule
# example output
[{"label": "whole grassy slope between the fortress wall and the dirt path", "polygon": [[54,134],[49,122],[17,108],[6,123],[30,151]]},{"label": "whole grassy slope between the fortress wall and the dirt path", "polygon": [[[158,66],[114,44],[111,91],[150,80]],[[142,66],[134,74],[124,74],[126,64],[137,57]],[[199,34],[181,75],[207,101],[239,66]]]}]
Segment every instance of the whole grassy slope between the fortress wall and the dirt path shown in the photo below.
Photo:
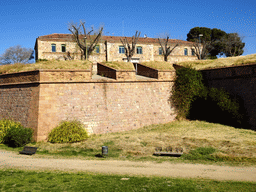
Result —
[{"label": "whole grassy slope between the fortress wall and the dirt path", "polygon": [[[52,144],[38,142],[36,156],[52,158],[76,157],[98,159],[101,147],[108,146],[109,155],[102,159],[132,161],[172,161],[186,163],[255,165],[256,132],[203,121],[174,121],[150,125],[137,130],[91,135],[84,142]],[[182,147],[180,158],[153,156],[156,147]],[[22,148],[1,149],[20,151]]]}]

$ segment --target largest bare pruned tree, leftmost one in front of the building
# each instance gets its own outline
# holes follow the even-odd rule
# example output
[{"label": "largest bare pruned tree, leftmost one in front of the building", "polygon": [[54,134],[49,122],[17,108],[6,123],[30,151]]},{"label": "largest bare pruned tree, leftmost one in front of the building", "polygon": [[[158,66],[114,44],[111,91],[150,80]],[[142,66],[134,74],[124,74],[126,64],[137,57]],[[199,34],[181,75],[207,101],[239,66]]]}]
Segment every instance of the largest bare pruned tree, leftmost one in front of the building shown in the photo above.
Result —
[{"label": "largest bare pruned tree, leftmost one in front of the building", "polygon": [[[73,34],[74,40],[80,47],[84,59],[88,59],[102,36],[103,27],[100,27],[98,32],[95,32],[92,27],[92,30],[87,33],[84,24],[85,22],[82,21],[80,21],[79,25],[70,23],[68,30]],[[94,34],[91,34],[92,32]]]}]

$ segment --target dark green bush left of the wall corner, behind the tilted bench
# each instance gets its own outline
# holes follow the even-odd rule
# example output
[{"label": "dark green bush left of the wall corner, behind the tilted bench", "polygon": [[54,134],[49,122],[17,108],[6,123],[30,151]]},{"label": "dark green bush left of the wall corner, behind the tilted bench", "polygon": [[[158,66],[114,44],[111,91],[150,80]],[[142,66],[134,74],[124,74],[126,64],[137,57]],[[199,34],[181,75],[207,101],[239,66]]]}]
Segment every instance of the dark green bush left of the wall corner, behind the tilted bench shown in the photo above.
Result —
[{"label": "dark green bush left of the wall corner, behind the tilted bench", "polygon": [[24,128],[20,123],[15,123],[10,126],[3,141],[9,147],[22,147],[32,141],[32,136],[32,129]]}]

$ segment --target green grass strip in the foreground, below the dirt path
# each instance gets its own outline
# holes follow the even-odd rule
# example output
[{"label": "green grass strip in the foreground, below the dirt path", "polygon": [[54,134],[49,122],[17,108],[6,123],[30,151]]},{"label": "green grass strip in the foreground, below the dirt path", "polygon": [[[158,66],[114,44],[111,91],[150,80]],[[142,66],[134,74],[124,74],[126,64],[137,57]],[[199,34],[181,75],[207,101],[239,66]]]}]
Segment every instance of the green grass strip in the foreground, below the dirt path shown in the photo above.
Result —
[{"label": "green grass strip in the foreground, below the dirt path", "polygon": [[252,182],[0,169],[1,191],[255,191]]}]

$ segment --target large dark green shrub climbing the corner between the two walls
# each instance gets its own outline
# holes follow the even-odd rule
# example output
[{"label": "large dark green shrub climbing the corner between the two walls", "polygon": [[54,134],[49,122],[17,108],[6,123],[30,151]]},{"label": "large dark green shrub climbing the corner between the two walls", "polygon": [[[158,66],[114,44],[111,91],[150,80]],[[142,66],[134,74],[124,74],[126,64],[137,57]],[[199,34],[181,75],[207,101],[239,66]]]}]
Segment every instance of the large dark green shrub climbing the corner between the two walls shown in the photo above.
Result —
[{"label": "large dark green shrub climbing the corner between the two walls", "polygon": [[207,88],[201,72],[191,67],[176,71],[170,100],[177,118],[189,118],[241,126],[244,115],[240,103],[224,89]]}]

